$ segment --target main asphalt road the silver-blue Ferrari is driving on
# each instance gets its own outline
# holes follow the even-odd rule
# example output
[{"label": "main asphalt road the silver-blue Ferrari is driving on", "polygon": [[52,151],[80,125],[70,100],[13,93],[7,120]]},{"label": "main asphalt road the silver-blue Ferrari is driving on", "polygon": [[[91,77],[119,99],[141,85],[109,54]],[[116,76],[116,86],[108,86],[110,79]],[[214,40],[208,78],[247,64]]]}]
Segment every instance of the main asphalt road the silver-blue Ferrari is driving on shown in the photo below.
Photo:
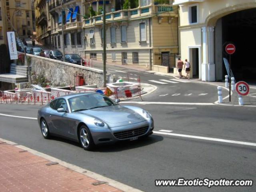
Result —
[{"label": "main asphalt road the silver-blue Ferrari is driving on", "polygon": [[[137,105],[155,130],[256,143],[256,108]],[[0,113],[36,117],[39,106],[0,104]],[[256,147],[164,134],[100,146],[93,152],[61,138],[43,139],[36,120],[0,116],[0,138],[33,148],[143,191],[254,192],[252,187],[155,187],[155,179],[226,178],[256,181]]]}]

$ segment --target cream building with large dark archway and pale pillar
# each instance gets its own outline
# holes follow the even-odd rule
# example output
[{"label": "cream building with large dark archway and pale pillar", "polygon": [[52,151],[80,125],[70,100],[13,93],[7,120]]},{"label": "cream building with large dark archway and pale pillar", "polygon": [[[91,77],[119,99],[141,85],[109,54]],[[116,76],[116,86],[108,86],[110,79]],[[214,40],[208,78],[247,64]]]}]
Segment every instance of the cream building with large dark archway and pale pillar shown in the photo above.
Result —
[{"label": "cream building with large dark archway and pale pillar", "polygon": [[190,60],[194,77],[223,80],[225,45],[232,43],[236,80],[255,82],[256,0],[174,0],[174,5],[179,6],[181,58]]}]

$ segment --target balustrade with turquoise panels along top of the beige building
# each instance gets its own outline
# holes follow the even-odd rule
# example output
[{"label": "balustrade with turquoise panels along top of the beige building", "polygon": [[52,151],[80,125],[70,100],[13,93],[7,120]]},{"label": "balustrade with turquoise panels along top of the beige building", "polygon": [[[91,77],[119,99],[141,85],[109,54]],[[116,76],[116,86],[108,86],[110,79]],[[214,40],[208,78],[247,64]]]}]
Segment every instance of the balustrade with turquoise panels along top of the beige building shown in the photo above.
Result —
[{"label": "balustrade with turquoise panels along top of the beige building", "polygon": [[[150,5],[140,8],[134,8],[129,10],[118,10],[116,12],[110,12],[106,14],[106,22],[113,22],[115,20],[140,18],[144,16],[150,16],[156,14],[157,16],[177,16],[174,12],[172,5]],[[102,24],[103,15],[94,16],[93,19],[84,19],[83,27]]]}]

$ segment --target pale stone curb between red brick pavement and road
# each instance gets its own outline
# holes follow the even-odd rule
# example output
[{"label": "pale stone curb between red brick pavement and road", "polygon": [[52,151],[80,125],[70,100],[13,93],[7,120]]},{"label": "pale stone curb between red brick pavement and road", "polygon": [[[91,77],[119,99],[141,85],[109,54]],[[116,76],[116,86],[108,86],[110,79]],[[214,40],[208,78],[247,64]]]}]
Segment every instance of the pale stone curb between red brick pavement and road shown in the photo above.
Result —
[{"label": "pale stone curb between red brick pavement and road", "polygon": [[76,166],[76,165],[67,163],[67,162],[65,162],[65,161],[62,161],[62,160],[60,160],[60,159],[57,159],[57,158],[54,158],[54,157],[52,157],[52,156],[46,155],[46,154],[44,154],[44,153],[38,152],[38,151],[33,150],[33,149],[31,149],[31,148],[28,148],[28,147],[26,147],[26,146],[19,145],[19,144],[15,143],[15,142],[12,142],[12,141],[9,141],[9,140],[5,140],[5,139],[2,139],[2,138],[0,138],[0,141],[6,142],[7,144],[10,144],[10,145],[14,145],[15,147],[18,147],[18,148],[20,148],[20,149],[26,150],[26,151],[28,151],[28,152],[30,152],[30,153],[36,155],[36,156],[40,156],[40,157],[45,158],[45,159],[47,159],[47,160],[49,160],[49,161],[58,162],[61,166],[64,166],[64,167],[66,167],[66,168],[69,168],[69,169],[71,169],[71,170],[73,170],[73,171],[75,171],[75,172],[78,172],[78,173],[80,173],[80,174],[83,174],[83,175],[85,175],[85,176],[88,176],[88,177],[90,177],[90,178],[93,178],[93,179],[95,179],[95,180],[104,181],[104,182],[106,182],[109,186],[112,186],[112,187],[117,188],[117,189],[119,189],[119,190],[122,190],[122,191],[124,191],[124,192],[142,192],[141,190],[138,190],[138,189],[136,189],[136,188],[130,187],[130,186],[128,186],[128,185],[126,185],[126,184],[123,184],[123,183],[121,183],[121,182],[112,180],[112,179],[110,179],[110,178],[107,178],[107,177],[102,176],[102,175],[100,175],[100,174],[91,172],[91,171],[86,170],[86,169],[84,169],[84,168],[81,168],[81,167],[79,167],[79,166]]}]

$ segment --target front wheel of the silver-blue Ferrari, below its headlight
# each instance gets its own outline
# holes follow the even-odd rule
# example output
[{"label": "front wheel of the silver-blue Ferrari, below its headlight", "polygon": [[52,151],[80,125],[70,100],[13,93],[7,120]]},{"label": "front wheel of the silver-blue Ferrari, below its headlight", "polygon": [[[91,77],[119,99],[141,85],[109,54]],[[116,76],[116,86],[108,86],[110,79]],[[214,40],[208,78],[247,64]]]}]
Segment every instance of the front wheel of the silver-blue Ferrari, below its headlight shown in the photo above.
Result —
[{"label": "front wheel of the silver-blue Ferrari, below its headlight", "polygon": [[94,148],[92,135],[88,127],[85,125],[82,125],[79,129],[79,141],[84,150],[92,150]]}]

